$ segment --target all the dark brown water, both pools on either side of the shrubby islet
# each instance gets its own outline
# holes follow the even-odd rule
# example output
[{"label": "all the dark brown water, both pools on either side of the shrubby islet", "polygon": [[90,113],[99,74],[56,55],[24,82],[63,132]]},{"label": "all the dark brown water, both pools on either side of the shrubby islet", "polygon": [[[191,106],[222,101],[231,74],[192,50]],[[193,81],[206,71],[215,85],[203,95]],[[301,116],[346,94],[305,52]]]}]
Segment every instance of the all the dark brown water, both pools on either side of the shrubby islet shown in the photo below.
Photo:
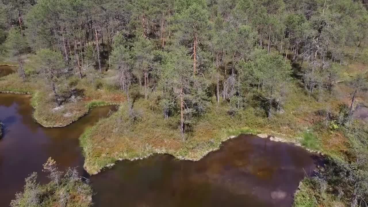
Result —
[{"label": "all the dark brown water, both pools on either side of the shrubby islet", "polygon": [[[82,166],[78,137],[108,110],[46,129],[33,122],[28,99],[0,94],[0,119],[7,127],[0,140],[0,206],[22,190],[29,173],[45,180],[40,171],[48,157],[61,168]],[[97,207],[280,207],[291,206],[299,181],[313,173],[316,162],[318,157],[294,145],[239,136],[198,162],[154,155],[118,162],[90,179]]]}]

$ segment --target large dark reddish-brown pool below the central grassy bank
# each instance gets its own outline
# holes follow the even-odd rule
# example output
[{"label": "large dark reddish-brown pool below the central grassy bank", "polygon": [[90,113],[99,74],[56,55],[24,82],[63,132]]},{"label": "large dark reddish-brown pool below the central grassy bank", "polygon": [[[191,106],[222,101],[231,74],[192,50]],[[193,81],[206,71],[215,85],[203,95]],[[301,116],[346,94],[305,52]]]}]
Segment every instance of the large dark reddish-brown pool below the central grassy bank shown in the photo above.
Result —
[{"label": "large dark reddish-brown pool below the central grassy bank", "polygon": [[[198,162],[155,155],[92,176],[96,206],[291,206],[318,157],[294,145],[239,136]],[[108,205],[107,205],[108,204]]]}]

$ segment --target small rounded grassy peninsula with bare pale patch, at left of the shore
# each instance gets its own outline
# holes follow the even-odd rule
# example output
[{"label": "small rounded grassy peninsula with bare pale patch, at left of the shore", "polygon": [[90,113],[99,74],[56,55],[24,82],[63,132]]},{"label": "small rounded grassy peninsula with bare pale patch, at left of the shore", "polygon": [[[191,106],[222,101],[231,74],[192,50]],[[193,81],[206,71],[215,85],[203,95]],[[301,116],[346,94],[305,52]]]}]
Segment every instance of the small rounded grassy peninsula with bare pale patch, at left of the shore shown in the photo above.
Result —
[{"label": "small rounded grassy peninsula with bare pale patch, at left of the shore", "polygon": [[[30,64],[32,66],[32,61]],[[51,88],[45,85],[42,78],[33,76],[31,66],[27,68],[30,77],[26,81],[22,81],[16,73],[1,77],[0,92],[31,93],[31,104],[35,109],[33,117],[44,127],[66,126],[86,115],[95,106],[120,104],[124,101],[124,96],[117,90],[103,86],[96,88],[89,80],[71,76],[58,82],[58,93],[63,102],[57,106]]]}]

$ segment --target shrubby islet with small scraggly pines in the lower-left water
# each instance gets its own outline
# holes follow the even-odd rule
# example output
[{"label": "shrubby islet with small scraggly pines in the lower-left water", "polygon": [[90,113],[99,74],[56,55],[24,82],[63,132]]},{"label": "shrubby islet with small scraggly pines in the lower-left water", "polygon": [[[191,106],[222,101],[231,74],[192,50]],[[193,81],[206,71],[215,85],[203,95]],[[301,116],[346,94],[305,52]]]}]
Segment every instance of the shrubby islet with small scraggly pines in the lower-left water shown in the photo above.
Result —
[{"label": "shrubby islet with small scraggly pines in the lower-left water", "polygon": [[56,162],[49,158],[43,165],[50,182],[37,183],[37,173],[25,179],[24,191],[15,194],[11,207],[89,207],[92,206],[92,188],[78,176],[75,168],[65,173],[59,171]]}]

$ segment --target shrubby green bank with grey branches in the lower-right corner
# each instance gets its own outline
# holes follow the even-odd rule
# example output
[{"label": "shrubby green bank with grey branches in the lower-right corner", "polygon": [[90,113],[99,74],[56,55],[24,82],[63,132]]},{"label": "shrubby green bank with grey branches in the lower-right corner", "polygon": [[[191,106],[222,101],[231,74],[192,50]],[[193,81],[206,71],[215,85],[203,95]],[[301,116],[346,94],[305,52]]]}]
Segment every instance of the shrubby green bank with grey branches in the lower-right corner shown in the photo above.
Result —
[{"label": "shrubby green bank with grey branches in the lower-right corner", "polygon": [[343,129],[345,159],[326,158],[313,178],[305,178],[294,195],[293,207],[366,206],[368,196],[368,127],[355,121]]}]

